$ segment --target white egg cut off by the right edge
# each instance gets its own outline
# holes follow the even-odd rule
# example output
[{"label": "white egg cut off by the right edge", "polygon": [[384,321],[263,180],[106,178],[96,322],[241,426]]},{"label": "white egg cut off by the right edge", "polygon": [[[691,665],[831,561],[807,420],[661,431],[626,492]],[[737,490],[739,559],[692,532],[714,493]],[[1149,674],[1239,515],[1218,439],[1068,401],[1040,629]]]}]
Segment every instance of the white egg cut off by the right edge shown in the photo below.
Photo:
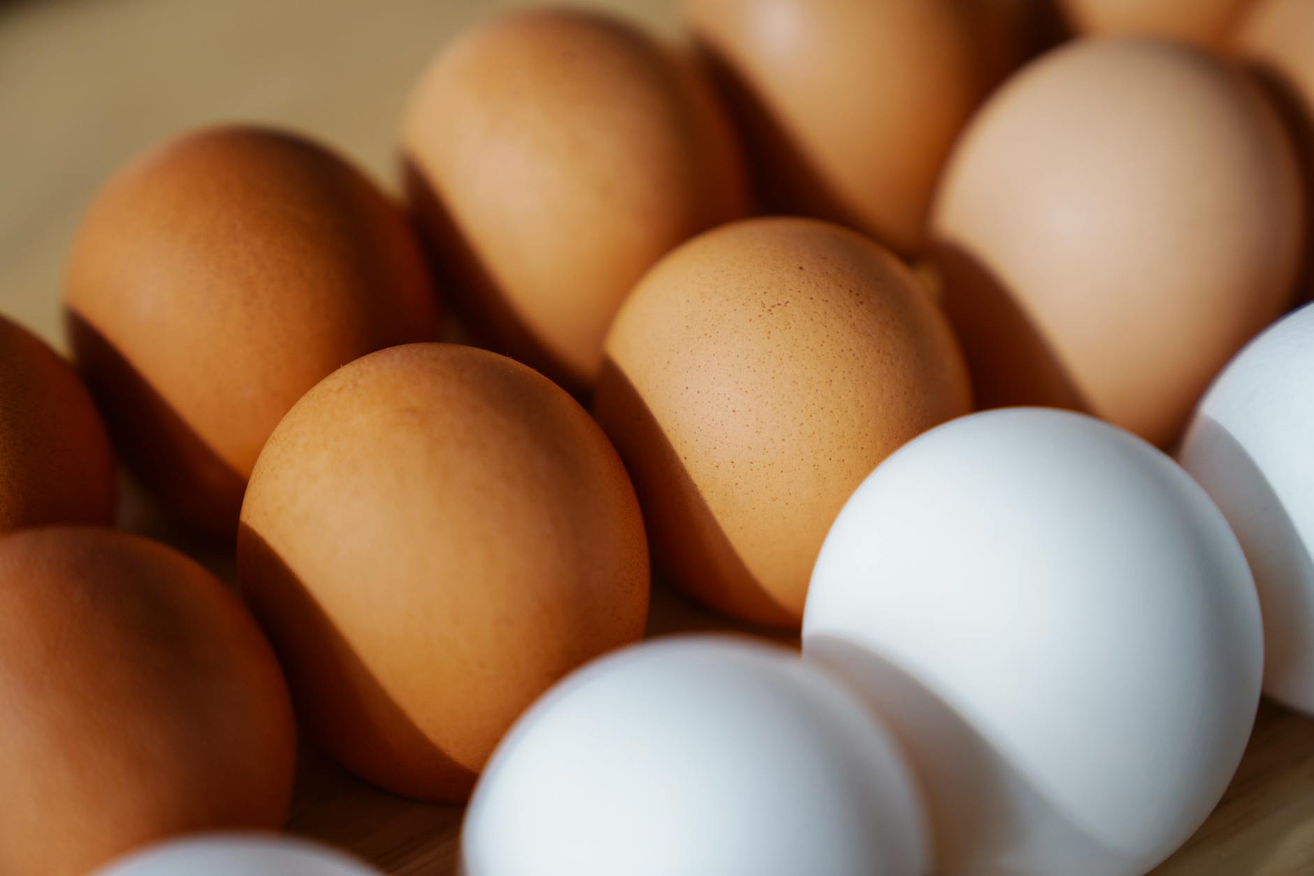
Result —
[{"label": "white egg cut off by the right edge", "polygon": [[1314,713],[1314,304],[1205,395],[1179,454],[1236,531],[1264,613],[1264,692]]}]

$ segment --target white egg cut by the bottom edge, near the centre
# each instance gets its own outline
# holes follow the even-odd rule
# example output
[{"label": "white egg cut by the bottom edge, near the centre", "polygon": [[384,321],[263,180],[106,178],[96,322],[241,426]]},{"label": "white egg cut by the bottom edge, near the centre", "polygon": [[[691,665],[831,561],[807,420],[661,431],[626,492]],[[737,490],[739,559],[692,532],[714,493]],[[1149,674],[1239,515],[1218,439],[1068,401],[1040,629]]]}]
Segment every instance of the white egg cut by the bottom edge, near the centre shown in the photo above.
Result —
[{"label": "white egg cut by the bottom edge, near the centre", "polygon": [[515,725],[461,831],[465,876],[917,876],[888,734],[796,652],[679,637],[597,660]]}]

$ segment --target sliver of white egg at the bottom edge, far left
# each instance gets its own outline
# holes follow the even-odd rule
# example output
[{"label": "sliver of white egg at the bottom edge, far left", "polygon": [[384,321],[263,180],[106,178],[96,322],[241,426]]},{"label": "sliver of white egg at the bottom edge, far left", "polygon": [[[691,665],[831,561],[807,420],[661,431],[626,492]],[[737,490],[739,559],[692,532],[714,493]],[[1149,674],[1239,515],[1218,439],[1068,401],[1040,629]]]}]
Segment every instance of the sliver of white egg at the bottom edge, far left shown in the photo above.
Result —
[{"label": "sliver of white egg at the bottom edge, far left", "polygon": [[318,843],[276,834],[201,834],[150,846],[93,876],[382,876]]}]

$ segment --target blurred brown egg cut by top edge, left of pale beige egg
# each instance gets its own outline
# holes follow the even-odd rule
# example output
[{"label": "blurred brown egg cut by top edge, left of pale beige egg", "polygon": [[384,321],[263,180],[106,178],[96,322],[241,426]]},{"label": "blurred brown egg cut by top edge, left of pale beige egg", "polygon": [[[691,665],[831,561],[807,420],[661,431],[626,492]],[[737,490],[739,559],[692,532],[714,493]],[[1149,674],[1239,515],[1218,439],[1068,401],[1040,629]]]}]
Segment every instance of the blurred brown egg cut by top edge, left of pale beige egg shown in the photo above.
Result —
[{"label": "blurred brown egg cut by top edge, left of pale beige egg", "polygon": [[[911,253],[954,138],[1017,61],[1021,3],[689,0],[773,210]],[[987,38],[983,38],[987,37]]]}]

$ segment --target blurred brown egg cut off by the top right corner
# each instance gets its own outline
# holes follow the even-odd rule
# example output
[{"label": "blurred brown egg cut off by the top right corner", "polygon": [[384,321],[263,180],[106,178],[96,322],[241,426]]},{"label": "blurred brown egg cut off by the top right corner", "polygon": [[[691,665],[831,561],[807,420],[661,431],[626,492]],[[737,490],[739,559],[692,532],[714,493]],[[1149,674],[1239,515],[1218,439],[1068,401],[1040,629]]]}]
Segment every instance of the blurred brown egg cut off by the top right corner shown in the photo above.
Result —
[{"label": "blurred brown egg cut off by the top right corner", "polygon": [[[1314,204],[1314,4],[1260,0],[1242,21],[1233,46],[1259,75],[1286,122]],[[1302,299],[1314,292],[1314,228],[1306,224]]]}]

